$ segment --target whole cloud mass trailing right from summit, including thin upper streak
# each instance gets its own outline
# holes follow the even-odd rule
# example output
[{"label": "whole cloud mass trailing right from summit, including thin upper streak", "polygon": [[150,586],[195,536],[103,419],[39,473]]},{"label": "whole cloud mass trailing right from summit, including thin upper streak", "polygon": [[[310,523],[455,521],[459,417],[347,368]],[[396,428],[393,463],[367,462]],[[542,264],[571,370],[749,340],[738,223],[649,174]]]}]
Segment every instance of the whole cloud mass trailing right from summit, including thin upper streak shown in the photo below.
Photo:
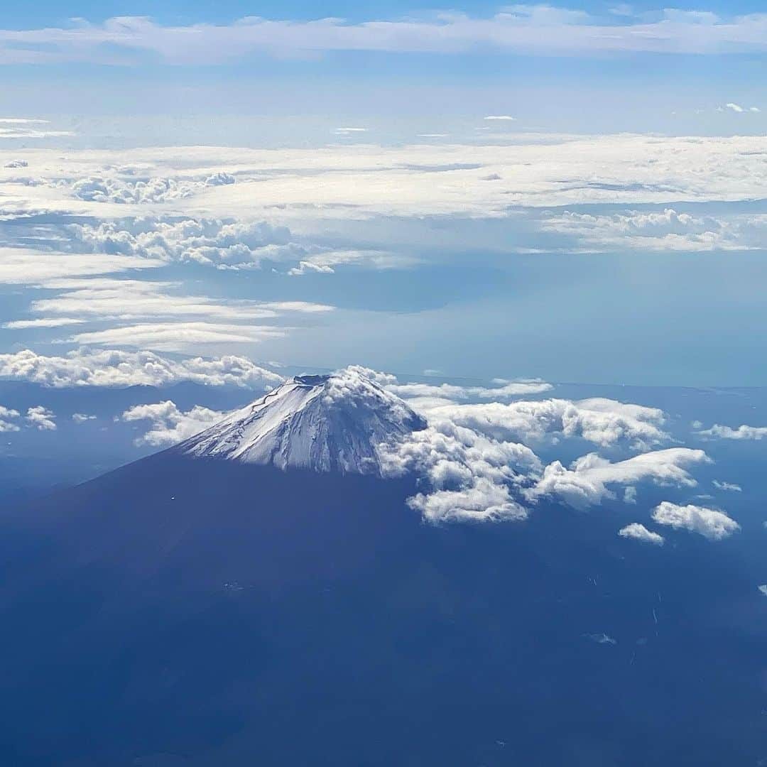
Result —
[{"label": "whole cloud mass trailing right from summit, including thin upper streak", "polygon": [[456,403],[457,398],[542,393],[550,387],[542,381],[502,379],[495,380],[495,387],[401,384],[392,374],[356,369],[385,390],[406,397],[426,416],[428,428],[393,446],[381,446],[381,453],[384,473],[415,472],[423,478],[426,489],[409,502],[432,521],[522,519],[528,513],[526,504],[544,495],[582,508],[613,497],[607,487],[613,483],[627,486],[626,502],[635,502],[636,482],[694,485],[684,467],[706,460],[700,450],[670,449],[614,464],[591,454],[569,472],[558,462],[543,469],[529,444],[556,446],[578,438],[603,447],[644,450],[670,439],[661,428],[666,416],[657,408],[601,397]]}]

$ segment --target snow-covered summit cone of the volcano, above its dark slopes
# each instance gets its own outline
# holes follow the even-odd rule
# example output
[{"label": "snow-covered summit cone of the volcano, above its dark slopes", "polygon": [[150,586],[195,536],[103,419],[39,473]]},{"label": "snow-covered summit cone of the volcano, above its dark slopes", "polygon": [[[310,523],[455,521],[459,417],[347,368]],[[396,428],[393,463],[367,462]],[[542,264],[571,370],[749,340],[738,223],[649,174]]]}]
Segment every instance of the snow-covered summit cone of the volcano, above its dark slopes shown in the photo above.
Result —
[{"label": "snow-covered summit cone of the volcano, above its dark slopes", "polygon": [[358,370],[296,376],[176,449],[280,469],[381,474],[378,448],[426,421]]}]

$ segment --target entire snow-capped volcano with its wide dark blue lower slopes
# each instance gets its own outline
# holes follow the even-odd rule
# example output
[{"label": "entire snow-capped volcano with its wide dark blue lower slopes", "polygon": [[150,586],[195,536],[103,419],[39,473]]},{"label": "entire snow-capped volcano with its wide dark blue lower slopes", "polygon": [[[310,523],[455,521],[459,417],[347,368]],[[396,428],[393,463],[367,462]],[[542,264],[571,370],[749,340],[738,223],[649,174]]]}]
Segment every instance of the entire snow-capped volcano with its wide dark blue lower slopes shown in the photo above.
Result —
[{"label": "entire snow-capped volcano with its wide dark blue lower slopes", "polygon": [[545,502],[425,522],[379,458],[425,426],[354,371],[302,376],[3,509],[0,764],[758,763],[742,550]]}]

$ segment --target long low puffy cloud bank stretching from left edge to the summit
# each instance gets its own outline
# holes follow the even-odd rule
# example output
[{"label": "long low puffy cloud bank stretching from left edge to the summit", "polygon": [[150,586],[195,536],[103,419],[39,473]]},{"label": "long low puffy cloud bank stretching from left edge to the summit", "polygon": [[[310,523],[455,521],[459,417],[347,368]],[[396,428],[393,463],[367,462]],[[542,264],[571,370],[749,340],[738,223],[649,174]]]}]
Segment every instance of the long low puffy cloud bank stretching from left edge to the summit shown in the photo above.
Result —
[{"label": "long low puffy cloud bank stretching from left edge to the summit", "polygon": [[173,360],[150,351],[77,349],[46,357],[29,349],[0,354],[0,379],[26,380],[54,388],[172,386],[191,381],[206,386],[271,389],[282,377],[245,357]]}]

